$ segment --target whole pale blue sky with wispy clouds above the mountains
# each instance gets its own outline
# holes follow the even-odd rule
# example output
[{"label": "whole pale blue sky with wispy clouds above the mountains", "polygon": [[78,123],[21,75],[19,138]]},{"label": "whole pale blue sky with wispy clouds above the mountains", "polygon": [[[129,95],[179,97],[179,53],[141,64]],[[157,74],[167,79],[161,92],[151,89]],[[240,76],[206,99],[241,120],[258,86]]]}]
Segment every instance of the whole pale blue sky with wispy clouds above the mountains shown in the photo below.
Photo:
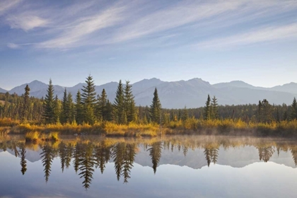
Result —
[{"label": "whole pale blue sky with wispy clouds above the mountains", "polygon": [[0,88],[297,82],[296,0],[0,0]]}]

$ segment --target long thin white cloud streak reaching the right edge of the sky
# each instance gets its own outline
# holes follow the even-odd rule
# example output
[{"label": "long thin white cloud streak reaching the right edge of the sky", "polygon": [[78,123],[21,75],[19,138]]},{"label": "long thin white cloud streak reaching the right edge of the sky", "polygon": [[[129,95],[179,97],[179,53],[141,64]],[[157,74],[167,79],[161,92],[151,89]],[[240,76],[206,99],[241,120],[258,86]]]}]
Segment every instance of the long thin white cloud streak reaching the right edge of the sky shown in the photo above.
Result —
[{"label": "long thin white cloud streak reaching the right edge of the sky", "polygon": [[284,39],[297,38],[297,23],[277,27],[261,28],[249,33],[221,37],[214,40],[199,42],[197,47],[236,47],[238,45],[250,45],[260,42],[269,42]]}]

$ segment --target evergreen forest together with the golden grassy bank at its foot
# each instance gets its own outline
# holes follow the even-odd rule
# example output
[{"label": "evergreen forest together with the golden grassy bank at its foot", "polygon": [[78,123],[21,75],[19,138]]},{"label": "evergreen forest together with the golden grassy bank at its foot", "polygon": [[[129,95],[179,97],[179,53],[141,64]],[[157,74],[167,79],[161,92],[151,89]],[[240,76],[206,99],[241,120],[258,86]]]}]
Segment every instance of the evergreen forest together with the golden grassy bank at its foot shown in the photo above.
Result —
[{"label": "evergreen forest together with the golden grassy bank at its foot", "polygon": [[[27,85],[23,95],[0,93],[1,132],[64,132],[123,136],[158,134],[262,134],[294,135],[297,132],[297,102],[274,105],[263,99],[257,104],[219,105],[215,95],[206,95],[204,107],[163,109],[158,90],[151,105],[136,106],[129,81],[119,82],[114,101],[105,89],[95,92],[93,77],[78,90],[73,100],[64,90],[59,100],[50,80],[45,98],[30,97]],[[174,98],[173,98],[174,100]]]}]

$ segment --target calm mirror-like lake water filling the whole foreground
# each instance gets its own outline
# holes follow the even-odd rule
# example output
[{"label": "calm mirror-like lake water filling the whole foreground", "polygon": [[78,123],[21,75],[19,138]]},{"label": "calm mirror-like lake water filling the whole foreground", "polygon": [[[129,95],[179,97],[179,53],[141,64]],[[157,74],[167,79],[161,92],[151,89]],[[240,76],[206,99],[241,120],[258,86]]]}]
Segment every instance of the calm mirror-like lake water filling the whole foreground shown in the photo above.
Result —
[{"label": "calm mirror-like lake water filling the whole foreground", "polygon": [[0,197],[296,197],[296,163],[286,139],[2,136]]}]

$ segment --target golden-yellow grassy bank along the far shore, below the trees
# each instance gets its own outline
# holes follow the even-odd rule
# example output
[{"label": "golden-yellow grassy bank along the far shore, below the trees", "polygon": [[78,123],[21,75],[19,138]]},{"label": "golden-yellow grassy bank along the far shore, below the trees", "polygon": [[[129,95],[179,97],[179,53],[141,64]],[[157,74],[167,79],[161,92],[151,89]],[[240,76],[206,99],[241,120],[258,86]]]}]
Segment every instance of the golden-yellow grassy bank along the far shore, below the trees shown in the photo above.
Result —
[{"label": "golden-yellow grassy bank along the far shore, below the trees", "polygon": [[[13,121],[11,121],[13,122]],[[3,122],[0,122],[0,124]],[[3,126],[4,125],[4,126]],[[290,122],[255,123],[242,120],[197,120],[168,122],[162,124],[115,124],[98,122],[90,124],[35,124],[13,122],[3,124],[0,133],[26,134],[38,132],[50,134],[99,134],[103,136],[158,136],[160,134],[226,134],[259,136],[296,136],[297,120]]]}]

